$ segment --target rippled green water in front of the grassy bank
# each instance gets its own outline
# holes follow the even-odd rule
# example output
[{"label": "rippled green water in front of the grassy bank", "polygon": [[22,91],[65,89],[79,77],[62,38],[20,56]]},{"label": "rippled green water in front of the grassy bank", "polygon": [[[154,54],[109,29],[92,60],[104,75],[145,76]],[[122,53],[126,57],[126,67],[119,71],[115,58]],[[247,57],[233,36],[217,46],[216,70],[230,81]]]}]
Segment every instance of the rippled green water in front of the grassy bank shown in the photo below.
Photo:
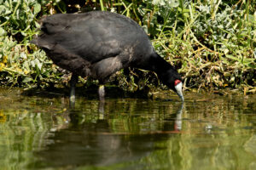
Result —
[{"label": "rippled green water in front of the grassy bank", "polygon": [[0,169],[256,169],[255,95],[185,100],[0,89]]}]

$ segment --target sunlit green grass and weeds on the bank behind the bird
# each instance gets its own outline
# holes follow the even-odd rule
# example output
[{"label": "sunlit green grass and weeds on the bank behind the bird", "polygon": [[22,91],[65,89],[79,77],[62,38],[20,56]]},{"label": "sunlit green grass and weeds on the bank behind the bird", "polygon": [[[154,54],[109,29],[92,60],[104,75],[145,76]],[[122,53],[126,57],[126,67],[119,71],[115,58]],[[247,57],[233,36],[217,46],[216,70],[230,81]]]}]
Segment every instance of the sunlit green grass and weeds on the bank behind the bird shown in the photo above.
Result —
[{"label": "sunlit green grass and weeds on the bank behind the bird", "polygon": [[[0,5],[0,85],[67,86],[67,76],[29,41],[44,14],[107,10],[136,20],[156,51],[175,65],[184,89],[239,89],[254,94],[256,59],[254,1],[6,1]],[[148,71],[120,71],[116,85],[130,91],[158,84]],[[87,79],[86,79],[87,80]],[[88,81],[82,81],[88,82]]]}]

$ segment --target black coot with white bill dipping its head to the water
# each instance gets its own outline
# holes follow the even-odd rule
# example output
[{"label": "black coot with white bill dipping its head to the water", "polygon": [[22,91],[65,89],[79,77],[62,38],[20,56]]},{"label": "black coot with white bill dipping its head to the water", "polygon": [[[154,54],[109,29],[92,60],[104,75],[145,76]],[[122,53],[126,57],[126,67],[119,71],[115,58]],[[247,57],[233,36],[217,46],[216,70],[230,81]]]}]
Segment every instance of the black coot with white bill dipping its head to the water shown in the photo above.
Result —
[{"label": "black coot with white bill dipping its head to the water", "polygon": [[[156,72],[183,101],[182,78],[154,51],[143,28],[121,14],[54,14],[42,20],[41,31],[32,43],[43,48],[55,65],[73,72],[72,102],[78,76],[104,84],[113,73],[126,67]],[[100,99],[104,95],[104,86],[100,86]]]}]

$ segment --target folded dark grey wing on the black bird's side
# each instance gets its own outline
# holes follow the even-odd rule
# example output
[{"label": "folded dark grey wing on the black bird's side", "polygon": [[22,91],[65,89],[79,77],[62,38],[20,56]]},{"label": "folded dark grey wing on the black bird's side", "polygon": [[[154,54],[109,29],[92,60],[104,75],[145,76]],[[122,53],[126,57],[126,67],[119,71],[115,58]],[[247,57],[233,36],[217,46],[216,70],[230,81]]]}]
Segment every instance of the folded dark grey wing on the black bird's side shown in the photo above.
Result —
[{"label": "folded dark grey wing on the black bird's side", "polygon": [[121,32],[123,27],[115,20],[91,18],[86,14],[55,14],[43,20],[43,33],[35,42],[50,50],[61,46],[95,63],[121,53],[122,38],[125,39],[120,38],[125,33]]}]

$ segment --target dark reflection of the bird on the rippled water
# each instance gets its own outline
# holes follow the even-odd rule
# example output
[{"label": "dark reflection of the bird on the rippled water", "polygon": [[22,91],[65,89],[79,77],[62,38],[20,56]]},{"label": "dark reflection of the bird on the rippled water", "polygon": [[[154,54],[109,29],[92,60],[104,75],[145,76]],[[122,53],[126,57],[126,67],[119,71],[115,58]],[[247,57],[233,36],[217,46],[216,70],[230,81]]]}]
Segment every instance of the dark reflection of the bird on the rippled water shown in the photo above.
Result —
[{"label": "dark reflection of the bird on the rippled water", "polygon": [[[181,116],[182,107],[178,112]],[[79,112],[72,110],[69,125],[59,129],[47,139],[50,141],[45,150],[35,152],[42,167],[67,167],[94,165],[106,166],[114,163],[134,161],[148,156],[158,148],[156,142],[172,138],[175,121],[164,122],[163,133],[113,133],[113,127],[105,117],[102,120],[80,122]],[[180,120],[180,119],[179,119]],[[138,124],[132,124],[138,126]],[[167,126],[168,125],[168,126]],[[167,127],[167,128],[166,128]],[[47,162],[47,164],[43,164]]]}]

